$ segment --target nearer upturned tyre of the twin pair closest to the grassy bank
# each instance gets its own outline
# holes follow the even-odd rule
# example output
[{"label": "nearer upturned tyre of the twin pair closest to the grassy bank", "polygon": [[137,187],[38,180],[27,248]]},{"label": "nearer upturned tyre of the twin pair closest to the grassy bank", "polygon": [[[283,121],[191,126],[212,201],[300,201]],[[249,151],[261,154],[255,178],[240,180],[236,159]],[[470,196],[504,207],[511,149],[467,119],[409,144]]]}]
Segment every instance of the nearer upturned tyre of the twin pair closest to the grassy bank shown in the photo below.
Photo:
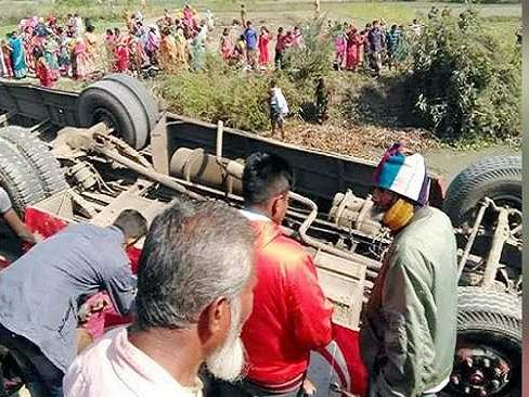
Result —
[{"label": "nearer upturned tyre of the twin pair closest to the grassy bank", "polygon": [[100,80],[89,86],[79,97],[77,113],[81,127],[104,121],[137,150],[147,142],[149,117],[138,98],[121,84]]}]

